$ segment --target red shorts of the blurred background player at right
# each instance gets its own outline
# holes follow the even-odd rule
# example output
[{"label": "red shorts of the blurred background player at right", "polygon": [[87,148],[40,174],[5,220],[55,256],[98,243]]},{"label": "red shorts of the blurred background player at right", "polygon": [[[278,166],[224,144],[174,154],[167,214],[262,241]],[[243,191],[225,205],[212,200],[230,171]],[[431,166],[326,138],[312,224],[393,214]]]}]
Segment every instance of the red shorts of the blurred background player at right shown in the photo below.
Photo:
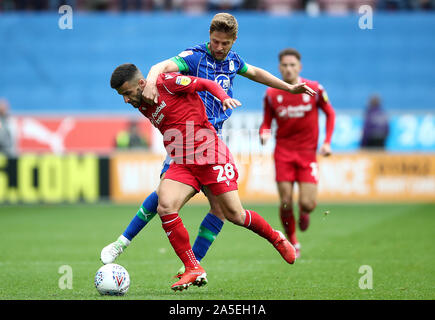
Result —
[{"label": "red shorts of the blurred background player at right", "polygon": [[275,151],[275,180],[276,182],[318,182],[319,167],[317,164],[316,152],[298,150],[286,151],[284,157]]}]

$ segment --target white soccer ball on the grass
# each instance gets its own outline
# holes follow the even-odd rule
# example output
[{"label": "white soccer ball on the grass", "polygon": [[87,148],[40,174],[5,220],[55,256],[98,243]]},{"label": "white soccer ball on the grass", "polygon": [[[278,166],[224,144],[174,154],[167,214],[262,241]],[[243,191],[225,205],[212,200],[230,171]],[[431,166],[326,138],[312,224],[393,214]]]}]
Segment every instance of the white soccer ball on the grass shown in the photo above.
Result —
[{"label": "white soccer ball on the grass", "polygon": [[130,276],[123,266],[109,263],[98,269],[94,284],[101,295],[122,296],[128,291]]}]

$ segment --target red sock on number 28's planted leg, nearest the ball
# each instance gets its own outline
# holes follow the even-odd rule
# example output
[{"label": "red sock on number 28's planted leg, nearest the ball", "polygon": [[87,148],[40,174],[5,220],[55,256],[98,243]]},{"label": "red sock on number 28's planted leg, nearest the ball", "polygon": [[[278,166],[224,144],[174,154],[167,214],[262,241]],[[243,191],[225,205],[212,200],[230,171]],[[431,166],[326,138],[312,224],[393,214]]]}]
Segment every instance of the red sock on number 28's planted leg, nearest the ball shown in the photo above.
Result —
[{"label": "red sock on number 28's planted leg, nearest the ball", "polygon": [[161,216],[162,227],[168,236],[169,242],[177,256],[184,263],[185,267],[196,267],[198,261],[190,246],[189,233],[183,225],[178,213],[171,213]]}]

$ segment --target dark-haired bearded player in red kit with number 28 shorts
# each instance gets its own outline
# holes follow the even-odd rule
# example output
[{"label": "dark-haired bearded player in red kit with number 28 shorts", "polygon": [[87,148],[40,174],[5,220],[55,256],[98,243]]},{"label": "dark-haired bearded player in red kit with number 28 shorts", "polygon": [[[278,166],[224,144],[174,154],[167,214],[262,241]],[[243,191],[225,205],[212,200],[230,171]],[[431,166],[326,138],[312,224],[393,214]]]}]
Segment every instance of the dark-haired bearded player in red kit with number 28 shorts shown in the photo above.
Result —
[{"label": "dark-haired bearded player in red kit with number 28 shorts", "polygon": [[133,64],[117,67],[110,85],[159,129],[166,151],[173,159],[157,189],[157,213],[169,242],[185,266],[185,272],[171,286],[173,290],[206,281],[206,272],[195,258],[189,234],[178,216],[183,205],[201,187],[217,197],[227,220],[267,239],[288,263],[294,262],[295,248],[285,236],[272,229],[258,213],[242,207],[233,157],[208,121],[197,92],[210,92],[222,102],[224,110],[239,106],[238,100],[229,97],[214,81],[162,73],[156,83],[158,101],[147,104],[142,96],[146,80]]}]

